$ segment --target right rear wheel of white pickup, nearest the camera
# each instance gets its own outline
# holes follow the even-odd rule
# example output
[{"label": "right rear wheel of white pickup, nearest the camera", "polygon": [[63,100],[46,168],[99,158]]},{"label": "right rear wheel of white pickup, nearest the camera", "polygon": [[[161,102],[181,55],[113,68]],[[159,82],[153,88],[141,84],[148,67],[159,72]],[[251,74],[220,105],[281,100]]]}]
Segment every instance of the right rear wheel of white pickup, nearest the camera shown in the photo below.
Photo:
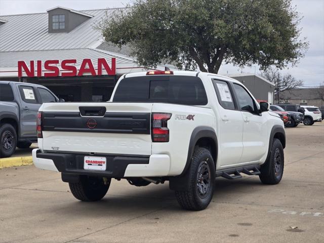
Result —
[{"label": "right rear wheel of white pickup, nearest the camera", "polygon": [[[200,173],[198,174],[198,170],[202,166],[209,169],[209,186],[205,195],[199,193],[198,186],[199,180],[201,179],[199,179]],[[187,173],[189,189],[187,191],[175,191],[178,203],[186,210],[198,211],[206,209],[212,200],[215,187],[215,164],[208,149],[196,148],[194,150]]]}]

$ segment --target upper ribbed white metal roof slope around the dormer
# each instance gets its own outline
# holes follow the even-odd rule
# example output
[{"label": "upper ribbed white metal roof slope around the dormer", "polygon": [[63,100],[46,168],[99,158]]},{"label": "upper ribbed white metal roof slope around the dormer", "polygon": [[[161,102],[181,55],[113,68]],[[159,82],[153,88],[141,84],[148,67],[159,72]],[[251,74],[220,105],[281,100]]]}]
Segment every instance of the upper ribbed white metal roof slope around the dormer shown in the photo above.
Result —
[{"label": "upper ribbed white metal roof slope around the dormer", "polygon": [[114,9],[82,11],[94,17],[69,33],[49,33],[48,13],[0,16],[7,21],[0,25],[0,52],[87,48],[103,41],[94,26],[105,17],[106,11],[109,15]]}]

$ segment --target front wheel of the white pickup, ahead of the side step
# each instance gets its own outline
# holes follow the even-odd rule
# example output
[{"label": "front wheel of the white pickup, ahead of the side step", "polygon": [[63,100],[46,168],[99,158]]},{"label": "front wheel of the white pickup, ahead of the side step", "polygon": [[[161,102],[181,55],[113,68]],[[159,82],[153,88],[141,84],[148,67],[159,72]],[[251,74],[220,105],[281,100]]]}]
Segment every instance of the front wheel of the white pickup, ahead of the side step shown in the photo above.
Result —
[{"label": "front wheel of the white pickup, ahead of the side step", "polygon": [[263,184],[278,184],[284,174],[284,148],[279,139],[274,138],[271,146],[270,156],[261,167],[260,180]]}]

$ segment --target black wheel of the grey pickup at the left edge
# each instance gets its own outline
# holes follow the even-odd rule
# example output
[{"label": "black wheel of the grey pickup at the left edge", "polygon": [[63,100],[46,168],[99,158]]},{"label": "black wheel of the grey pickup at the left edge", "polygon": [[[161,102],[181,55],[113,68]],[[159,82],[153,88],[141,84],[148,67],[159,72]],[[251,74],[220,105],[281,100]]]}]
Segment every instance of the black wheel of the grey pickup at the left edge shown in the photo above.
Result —
[{"label": "black wheel of the grey pickup at the left edge", "polygon": [[10,124],[0,127],[0,157],[10,157],[16,150],[17,133]]}]

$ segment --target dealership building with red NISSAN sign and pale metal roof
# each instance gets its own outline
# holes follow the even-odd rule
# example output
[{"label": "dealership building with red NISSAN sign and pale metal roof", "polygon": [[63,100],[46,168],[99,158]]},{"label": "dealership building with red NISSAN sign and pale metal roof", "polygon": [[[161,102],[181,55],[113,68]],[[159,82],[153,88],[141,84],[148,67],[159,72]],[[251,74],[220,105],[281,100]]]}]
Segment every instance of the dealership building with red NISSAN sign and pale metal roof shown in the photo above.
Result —
[{"label": "dealership building with red NISSAN sign and pale metal roof", "polygon": [[[114,10],[55,7],[47,13],[0,16],[0,80],[44,85],[65,101],[109,100],[121,75],[147,70],[128,47],[105,42],[95,28]],[[156,69],[166,67],[174,68]],[[266,79],[230,76],[257,99],[272,103],[274,86]]]}]

